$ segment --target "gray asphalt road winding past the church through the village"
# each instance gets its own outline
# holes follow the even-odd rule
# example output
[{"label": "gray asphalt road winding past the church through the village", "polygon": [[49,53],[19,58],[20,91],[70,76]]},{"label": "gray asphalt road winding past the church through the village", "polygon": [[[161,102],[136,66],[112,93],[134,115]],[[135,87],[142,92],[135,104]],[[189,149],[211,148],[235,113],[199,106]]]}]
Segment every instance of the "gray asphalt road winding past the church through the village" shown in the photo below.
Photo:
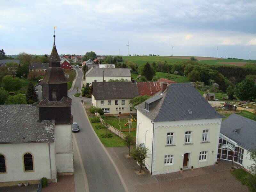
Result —
[{"label": "gray asphalt road winding past the church through the village", "polygon": [[123,192],[124,187],[120,178],[85,116],[84,107],[81,103],[83,98],[72,96],[76,93],[76,87],[79,91],[81,90],[83,78],[82,71],[75,69],[78,72],[78,77],[74,89],[68,92],[68,96],[72,99],[71,113],[73,121],[80,126],[80,132],[75,134],[89,189],[91,192]]}]

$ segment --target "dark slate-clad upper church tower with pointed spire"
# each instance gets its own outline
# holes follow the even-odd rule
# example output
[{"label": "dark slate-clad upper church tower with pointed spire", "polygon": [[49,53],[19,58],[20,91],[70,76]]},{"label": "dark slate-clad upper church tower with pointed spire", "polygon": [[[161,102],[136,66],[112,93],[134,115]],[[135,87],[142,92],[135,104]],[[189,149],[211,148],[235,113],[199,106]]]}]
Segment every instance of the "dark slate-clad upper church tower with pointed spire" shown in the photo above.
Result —
[{"label": "dark slate-clad upper church tower with pointed spire", "polygon": [[55,120],[55,124],[72,124],[71,99],[68,97],[68,80],[60,68],[60,57],[53,36],[52,53],[49,68],[41,81],[43,100],[38,104],[39,120]]}]

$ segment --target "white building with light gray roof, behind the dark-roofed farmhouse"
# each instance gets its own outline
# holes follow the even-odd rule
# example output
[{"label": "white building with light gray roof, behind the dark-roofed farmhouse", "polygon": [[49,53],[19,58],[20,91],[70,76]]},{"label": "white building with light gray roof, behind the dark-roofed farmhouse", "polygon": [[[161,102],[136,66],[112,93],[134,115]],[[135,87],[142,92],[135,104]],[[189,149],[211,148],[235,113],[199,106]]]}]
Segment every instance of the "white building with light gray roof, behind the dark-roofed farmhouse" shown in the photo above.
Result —
[{"label": "white building with light gray roof, behind the dark-roofed farmhouse", "polygon": [[85,73],[86,83],[107,82],[110,79],[124,79],[131,81],[131,69],[129,68],[90,68]]}]

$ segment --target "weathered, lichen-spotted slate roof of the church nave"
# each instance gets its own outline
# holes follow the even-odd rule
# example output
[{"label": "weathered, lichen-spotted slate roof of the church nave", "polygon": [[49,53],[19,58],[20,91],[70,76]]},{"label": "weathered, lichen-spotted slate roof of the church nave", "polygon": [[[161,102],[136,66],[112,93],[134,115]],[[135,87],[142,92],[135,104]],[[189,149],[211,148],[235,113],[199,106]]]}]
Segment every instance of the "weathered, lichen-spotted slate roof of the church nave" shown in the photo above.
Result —
[{"label": "weathered, lichen-spotted slate roof of the church nave", "polygon": [[0,143],[53,142],[54,120],[38,120],[36,106],[0,105]]}]

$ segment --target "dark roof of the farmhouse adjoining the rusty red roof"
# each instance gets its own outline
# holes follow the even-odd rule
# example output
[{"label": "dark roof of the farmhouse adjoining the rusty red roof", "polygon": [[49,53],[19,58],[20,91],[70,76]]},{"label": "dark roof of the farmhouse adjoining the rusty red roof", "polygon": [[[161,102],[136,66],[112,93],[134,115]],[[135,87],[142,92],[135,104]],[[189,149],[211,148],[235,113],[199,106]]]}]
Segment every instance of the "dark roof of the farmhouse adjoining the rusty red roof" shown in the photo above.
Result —
[{"label": "dark roof of the farmhouse adjoining the rusty red roof", "polygon": [[132,82],[92,82],[92,95],[98,99],[133,99],[139,96]]}]

